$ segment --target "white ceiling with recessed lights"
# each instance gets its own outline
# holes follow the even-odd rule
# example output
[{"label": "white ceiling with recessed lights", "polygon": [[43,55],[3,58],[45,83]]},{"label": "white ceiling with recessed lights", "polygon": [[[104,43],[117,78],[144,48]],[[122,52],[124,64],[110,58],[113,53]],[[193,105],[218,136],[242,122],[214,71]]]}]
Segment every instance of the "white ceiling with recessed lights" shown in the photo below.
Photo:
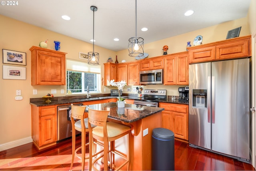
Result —
[{"label": "white ceiling with recessed lights", "polygon": [[[3,1],[2,1],[3,2]],[[6,1],[7,2],[7,1]],[[114,51],[128,49],[135,36],[135,0],[20,0],[0,6],[8,16]],[[144,44],[247,16],[251,0],[137,0],[137,36]],[[191,16],[184,16],[194,10]],[[70,16],[66,21],[62,15]],[[142,32],[146,27],[148,31]],[[47,35],[46,35],[47,36]],[[116,42],[113,39],[118,38]],[[46,37],[47,39],[47,37]],[[97,49],[95,49],[97,52]]]}]

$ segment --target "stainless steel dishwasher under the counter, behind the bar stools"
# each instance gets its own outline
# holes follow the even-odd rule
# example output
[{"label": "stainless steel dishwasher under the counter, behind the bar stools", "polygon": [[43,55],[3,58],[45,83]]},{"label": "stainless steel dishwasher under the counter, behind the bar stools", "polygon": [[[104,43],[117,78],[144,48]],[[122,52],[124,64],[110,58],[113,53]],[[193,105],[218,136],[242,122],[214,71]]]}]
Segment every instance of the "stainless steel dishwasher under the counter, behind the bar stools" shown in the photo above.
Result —
[{"label": "stainless steel dishwasher under the counter, behind the bar stools", "polygon": [[[81,106],[83,103],[74,105]],[[57,142],[59,142],[72,137],[71,105],[57,106],[57,111]],[[76,131],[76,135],[80,133]]]}]

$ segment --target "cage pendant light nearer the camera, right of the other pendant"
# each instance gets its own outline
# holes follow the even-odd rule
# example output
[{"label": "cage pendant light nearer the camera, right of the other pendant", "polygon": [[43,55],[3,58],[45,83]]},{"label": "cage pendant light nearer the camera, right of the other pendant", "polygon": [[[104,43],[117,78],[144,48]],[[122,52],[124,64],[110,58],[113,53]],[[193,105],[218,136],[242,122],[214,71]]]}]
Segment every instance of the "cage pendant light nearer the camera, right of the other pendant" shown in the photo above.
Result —
[{"label": "cage pendant light nearer the camera, right of the other pendant", "polygon": [[135,37],[129,39],[129,56],[137,57],[144,55],[144,39],[137,37],[137,0],[135,1]]}]

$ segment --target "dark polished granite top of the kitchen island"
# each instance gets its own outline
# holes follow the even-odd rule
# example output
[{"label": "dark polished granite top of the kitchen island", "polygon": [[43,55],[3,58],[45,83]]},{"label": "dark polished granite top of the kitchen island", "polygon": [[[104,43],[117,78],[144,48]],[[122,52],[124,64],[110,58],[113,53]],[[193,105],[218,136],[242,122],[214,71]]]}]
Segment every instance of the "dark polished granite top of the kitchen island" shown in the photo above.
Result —
[{"label": "dark polished granite top of the kitchen island", "polygon": [[150,107],[132,104],[125,104],[125,107],[119,108],[114,102],[88,105],[86,107],[87,111],[88,107],[97,110],[110,110],[110,113],[108,115],[109,118],[116,119],[118,121],[124,121],[127,123],[138,121],[140,119],[143,119],[144,117],[148,117],[164,110],[164,108],[160,107]]}]

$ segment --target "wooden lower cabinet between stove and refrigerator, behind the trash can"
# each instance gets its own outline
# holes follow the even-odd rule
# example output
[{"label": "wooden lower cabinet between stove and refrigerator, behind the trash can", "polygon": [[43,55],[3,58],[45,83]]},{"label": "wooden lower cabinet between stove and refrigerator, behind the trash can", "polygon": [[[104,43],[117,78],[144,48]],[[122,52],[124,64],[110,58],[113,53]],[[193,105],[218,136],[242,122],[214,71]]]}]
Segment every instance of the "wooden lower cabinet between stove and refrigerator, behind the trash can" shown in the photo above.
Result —
[{"label": "wooden lower cabinet between stove and refrigerator, behind the trash can", "polygon": [[170,129],[174,137],[188,141],[188,105],[160,102],[162,127]]}]

